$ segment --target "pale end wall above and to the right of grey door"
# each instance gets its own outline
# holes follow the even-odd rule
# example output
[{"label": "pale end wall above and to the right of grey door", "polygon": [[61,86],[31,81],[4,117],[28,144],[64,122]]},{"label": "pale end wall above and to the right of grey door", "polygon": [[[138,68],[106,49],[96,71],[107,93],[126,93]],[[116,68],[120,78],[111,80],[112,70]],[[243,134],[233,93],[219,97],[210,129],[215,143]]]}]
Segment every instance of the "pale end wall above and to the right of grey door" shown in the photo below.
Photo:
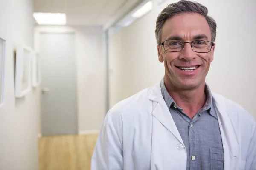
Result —
[{"label": "pale end wall above and to the right of grey door", "polygon": [[99,131],[105,117],[105,38],[99,26],[36,26],[40,32],[75,33],[79,133]]}]

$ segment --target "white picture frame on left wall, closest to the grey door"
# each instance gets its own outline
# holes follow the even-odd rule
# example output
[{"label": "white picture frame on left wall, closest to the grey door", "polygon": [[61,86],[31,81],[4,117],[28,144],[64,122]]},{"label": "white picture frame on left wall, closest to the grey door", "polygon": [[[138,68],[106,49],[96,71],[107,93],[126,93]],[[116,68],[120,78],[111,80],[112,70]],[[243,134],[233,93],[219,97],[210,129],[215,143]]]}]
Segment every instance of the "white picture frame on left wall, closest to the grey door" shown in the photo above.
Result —
[{"label": "white picture frame on left wall, closest to the grey door", "polygon": [[36,51],[32,52],[32,87],[37,87],[41,83],[40,57]]}]

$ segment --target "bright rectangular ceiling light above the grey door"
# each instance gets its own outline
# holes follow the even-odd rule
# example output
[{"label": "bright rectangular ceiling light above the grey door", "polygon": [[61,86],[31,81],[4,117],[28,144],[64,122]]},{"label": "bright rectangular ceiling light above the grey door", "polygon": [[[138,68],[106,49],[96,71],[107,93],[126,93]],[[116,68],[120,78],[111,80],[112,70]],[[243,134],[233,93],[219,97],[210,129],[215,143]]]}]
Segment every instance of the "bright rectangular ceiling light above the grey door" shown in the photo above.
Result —
[{"label": "bright rectangular ceiling light above the grey door", "polygon": [[65,25],[66,24],[66,14],[34,13],[33,16],[39,25]]}]

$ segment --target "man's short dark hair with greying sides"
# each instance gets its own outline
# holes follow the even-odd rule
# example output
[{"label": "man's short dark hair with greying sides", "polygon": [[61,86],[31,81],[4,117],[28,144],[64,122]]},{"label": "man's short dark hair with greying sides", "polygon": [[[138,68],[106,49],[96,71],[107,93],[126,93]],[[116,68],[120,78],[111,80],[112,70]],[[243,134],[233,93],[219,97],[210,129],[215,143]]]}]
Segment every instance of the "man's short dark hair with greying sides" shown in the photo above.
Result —
[{"label": "man's short dark hair with greying sides", "polygon": [[160,45],[161,43],[163,24],[170,17],[173,17],[181,13],[198,13],[204,16],[211,29],[212,42],[215,42],[217,25],[212,17],[207,16],[208,9],[197,2],[191,2],[189,0],[180,0],[177,3],[172,3],[166,6],[166,8],[164,8],[163,11],[161,11],[157,17],[155,34],[158,45]]}]

